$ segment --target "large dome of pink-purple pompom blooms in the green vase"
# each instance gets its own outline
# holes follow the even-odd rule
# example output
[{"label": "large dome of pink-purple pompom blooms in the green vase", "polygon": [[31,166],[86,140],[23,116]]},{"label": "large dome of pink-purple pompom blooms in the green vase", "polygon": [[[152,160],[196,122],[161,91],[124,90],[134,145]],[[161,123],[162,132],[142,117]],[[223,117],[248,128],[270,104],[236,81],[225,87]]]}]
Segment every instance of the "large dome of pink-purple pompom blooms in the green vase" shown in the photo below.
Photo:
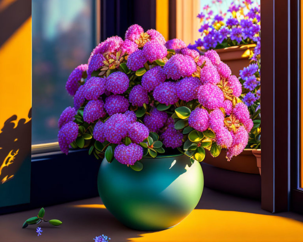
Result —
[{"label": "large dome of pink-purple pompom blooms in the green vase", "polygon": [[[188,135],[178,124],[175,128],[171,116],[179,106],[191,110],[185,126],[213,131],[211,141],[227,149],[228,159],[245,148],[253,126],[238,99],[241,84],[216,51],[199,56],[182,40],[165,41],[158,31],[144,32],[139,25],[128,28],[125,40],[113,36],[95,47],[88,64],[68,77],[66,89],[74,96],[74,107],[58,121],[59,145],[66,154],[83,132],[110,145],[115,159],[127,165],[142,159],[142,142],[150,132],[158,133],[166,148],[181,147]],[[85,131],[80,127],[78,136],[79,126]]]}]

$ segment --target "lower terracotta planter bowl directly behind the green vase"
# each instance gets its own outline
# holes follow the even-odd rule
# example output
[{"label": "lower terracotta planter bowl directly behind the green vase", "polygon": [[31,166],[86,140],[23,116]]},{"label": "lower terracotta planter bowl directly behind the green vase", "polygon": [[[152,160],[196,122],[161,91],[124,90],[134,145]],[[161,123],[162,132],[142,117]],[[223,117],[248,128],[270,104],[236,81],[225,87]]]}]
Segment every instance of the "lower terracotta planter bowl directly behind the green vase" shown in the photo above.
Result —
[{"label": "lower terracotta planter bowl directly behind the green vase", "polygon": [[233,157],[230,161],[227,161],[226,151],[224,149],[222,149],[220,155],[215,158],[210,155],[210,152],[205,152],[203,162],[230,171],[259,174],[258,167],[256,166],[256,158],[252,151],[252,149],[245,149],[240,155]]}]

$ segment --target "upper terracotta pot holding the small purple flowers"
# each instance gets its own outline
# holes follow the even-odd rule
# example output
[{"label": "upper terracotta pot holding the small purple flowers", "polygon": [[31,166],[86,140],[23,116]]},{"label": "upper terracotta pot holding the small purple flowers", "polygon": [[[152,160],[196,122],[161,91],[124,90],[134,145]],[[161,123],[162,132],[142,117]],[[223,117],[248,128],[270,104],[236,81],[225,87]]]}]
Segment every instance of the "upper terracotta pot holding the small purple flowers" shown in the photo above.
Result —
[{"label": "upper terracotta pot holding the small purple flowers", "polygon": [[255,48],[255,44],[232,46],[224,49],[217,49],[221,60],[228,64],[233,75],[239,76],[240,70],[249,65],[250,51]]}]

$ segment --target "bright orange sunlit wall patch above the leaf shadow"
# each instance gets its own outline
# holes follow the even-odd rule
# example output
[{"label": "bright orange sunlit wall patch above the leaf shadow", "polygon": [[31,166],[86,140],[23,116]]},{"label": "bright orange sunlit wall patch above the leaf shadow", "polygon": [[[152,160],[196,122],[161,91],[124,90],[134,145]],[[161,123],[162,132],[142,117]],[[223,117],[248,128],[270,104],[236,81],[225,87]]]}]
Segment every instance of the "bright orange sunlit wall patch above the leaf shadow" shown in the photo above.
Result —
[{"label": "bright orange sunlit wall patch above the leaf shadow", "polygon": [[[32,107],[32,18],[0,47],[0,129],[16,114],[28,121]],[[1,130],[0,130],[1,132]],[[29,141],[30,142],[30,141]]]}]

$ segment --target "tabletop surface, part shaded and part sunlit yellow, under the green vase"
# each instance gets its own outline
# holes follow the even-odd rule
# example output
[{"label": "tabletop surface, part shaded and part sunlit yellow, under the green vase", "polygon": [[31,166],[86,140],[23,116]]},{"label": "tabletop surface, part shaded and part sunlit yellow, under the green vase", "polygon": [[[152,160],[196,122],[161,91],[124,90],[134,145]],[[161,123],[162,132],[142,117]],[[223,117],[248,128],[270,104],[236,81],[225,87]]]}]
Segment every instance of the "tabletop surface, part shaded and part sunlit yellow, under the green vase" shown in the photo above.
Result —
[{"label": "tabletop surface, part shaded and part sunlit yellow, under the green vase", "polygon": [[[123,202],[123,201],[122,201]],[[180,224],[163,231],[135,231],[120,224],[101,204],[91,198],[45,208],[45,217],[63,221],[60,227],[41,224],[21,229],[23,221],[36,211],[0,216],[0,241],[91,241],[105,234],[111,242],[134,241],[302,241],[303,215],[271,214],[259,201],[238,198],[205,188],[197,208]]]}]

